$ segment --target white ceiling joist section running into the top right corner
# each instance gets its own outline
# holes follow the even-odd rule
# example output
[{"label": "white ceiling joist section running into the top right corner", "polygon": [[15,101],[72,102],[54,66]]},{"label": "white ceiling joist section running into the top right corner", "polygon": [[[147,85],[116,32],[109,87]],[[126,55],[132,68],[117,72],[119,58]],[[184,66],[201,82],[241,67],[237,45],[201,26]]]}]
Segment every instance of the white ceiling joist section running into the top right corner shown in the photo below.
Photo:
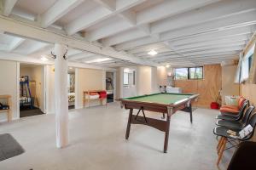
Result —
[{"label": "white ceiling joist section running into the top right corner", "polygon": [[154,22],[151,26],[152,33],[171,31],[183,27],[194,26],[210,20],[221,19],[232,14],[254,9],[254,0],[226,0],[195,9],[184,14],[179,14],[166,20]]}]

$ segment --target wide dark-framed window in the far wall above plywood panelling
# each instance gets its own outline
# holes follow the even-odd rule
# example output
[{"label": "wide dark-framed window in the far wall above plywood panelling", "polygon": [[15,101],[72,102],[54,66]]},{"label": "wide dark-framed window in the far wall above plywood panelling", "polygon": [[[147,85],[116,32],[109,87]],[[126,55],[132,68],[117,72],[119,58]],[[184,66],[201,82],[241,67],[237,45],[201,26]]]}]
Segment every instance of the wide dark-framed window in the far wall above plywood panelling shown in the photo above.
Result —
[{"label": "wide dark-framed window in the far wall above plywood panelling", "polygon": [[202,79],[203,67],[189,67],[175,69],[175,80]]}]

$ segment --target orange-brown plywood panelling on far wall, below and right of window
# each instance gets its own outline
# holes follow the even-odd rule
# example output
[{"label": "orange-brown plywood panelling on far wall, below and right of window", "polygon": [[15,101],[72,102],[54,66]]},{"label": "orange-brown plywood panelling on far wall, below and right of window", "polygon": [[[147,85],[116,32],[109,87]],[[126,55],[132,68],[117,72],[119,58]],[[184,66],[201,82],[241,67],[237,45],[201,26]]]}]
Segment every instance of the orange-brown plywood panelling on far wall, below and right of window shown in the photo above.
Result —
[{"label": "orange-brown plywood panelling on far wall, below and right of window", "polygon": [[221,72],[220,65],[204,65],[204,79],[176,80],[174,84],[177,88],[183,88],[183,93],[200,94],[196,105],[209,107],[221,89]]}]

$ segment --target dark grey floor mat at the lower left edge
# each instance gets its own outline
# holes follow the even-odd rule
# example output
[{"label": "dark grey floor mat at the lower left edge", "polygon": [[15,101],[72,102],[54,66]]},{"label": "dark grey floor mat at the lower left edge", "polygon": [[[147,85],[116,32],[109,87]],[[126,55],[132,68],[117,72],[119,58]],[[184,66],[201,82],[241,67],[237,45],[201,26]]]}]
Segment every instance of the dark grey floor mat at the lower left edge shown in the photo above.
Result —
[{"label": "dark grey floor mat at the lower left edge", "polygon": [[19,156],[25,152],[20,144],[9,133],[0,134],[0,161]]}]

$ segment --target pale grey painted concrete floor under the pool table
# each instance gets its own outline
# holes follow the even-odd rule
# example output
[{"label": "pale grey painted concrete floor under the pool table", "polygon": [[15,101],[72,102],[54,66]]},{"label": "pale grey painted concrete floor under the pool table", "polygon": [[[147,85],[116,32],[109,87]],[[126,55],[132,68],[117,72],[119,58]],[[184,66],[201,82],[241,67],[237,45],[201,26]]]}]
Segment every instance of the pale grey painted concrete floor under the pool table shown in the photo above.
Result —
[{"label": "pale grey painted concrete floor under the pool table", "polygon": [[[149,113],[160,117],[160,114]],[[164,133],[152,127],[131,125],[125,140],[128,111],[118,103],[70,111],[70,145],[55,147],[55,115],[21,118],[0,124],[0,133],[11,133],[26,152],[0,161],[2,170],[131,170],[218,169],[214,117],[218,111],[197,109],[194,122],[178,111],[172,116],[168,153],[164,154]],[[225,169],[232,150],[224,153]]]}]

